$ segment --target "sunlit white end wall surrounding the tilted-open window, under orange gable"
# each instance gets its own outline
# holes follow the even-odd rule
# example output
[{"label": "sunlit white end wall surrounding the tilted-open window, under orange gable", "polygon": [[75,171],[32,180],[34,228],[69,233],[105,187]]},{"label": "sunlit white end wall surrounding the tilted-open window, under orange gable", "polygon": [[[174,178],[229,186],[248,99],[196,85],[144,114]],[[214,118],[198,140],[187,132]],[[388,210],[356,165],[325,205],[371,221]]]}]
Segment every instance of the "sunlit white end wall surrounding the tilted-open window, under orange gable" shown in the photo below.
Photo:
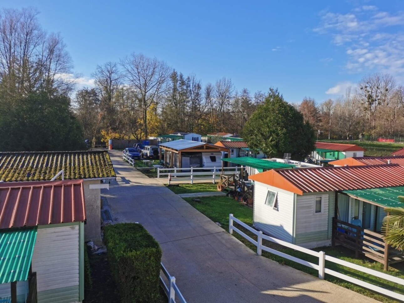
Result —
[{"label": "sunlit white end wall surrounding the tilted-open window, under orange gable", "polygon": [[[278,192],[278,210],[265,205],[268,190]],[[255,182],[254,226],[275,238],[292,243],[294,195],[290,191]]]}]

